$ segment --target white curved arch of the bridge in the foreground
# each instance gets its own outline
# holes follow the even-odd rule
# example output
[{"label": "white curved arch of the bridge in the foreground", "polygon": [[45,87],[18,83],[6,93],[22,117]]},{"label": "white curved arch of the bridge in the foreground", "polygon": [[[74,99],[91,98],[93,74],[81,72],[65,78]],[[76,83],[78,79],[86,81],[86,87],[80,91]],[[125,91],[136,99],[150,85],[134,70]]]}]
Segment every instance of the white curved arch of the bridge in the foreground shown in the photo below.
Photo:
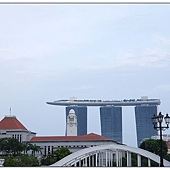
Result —
[{"label": "white curved arch of the bridge in the foreground", "polygon": [[[135,147],[130,147],[126,145],[119,145],[119,144],[109,144],[109,145],[99,145],[99,146],[94,146],[86,149],[81,149],[77,152],[72,153],[71,155],[68,155],[67,157],[61,159],[60,161],[50,165],[50,166],[68,166],[69,164],[74,164],[74,162],[77,159],[83,159],[87,157],[89,154],[97,153],[98,151],[101,150],[122,150],[122,151],[129,151],[131,153],[136,153],[141,156],[144,156],[148,159],[151,159],[157,163],[160,162],[160,157],[156,154],[153,154],[151,152],[148,152],[146,150],[140,149],[140,148],[135,148]],[[170,166],[170,162],[167,160],[164,161],[164,166]]]}]

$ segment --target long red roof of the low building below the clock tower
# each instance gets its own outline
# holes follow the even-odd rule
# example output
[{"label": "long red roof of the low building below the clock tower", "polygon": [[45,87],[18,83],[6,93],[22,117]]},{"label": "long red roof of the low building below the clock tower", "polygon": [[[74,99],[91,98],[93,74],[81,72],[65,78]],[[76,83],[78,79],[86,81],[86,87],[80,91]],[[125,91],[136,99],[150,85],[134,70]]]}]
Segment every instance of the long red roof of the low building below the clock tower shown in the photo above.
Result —
[{"label": "long red roof of the low building below the clock tower", "polygon": [[95,133],[90,133],[83,136],[35,136],[30,142],[61,142],[61,141],[113,141]]}]

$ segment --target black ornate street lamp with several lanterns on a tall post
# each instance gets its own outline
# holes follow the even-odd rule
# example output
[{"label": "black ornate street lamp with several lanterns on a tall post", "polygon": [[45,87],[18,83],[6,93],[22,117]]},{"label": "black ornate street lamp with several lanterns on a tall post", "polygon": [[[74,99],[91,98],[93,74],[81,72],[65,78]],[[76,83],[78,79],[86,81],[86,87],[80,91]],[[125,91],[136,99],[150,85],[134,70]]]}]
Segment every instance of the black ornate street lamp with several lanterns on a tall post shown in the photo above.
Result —
[{"label": "black ornate street lamp with several lanterns on a tall post", "polygon": [[[163,118],[165,119],[166,126],[162,126]],[[170,123],[170,117],[168,114],[164,117],[164,115],[159,112],[159,114],[153,115],[152,117],[152,123],[154,129],[160,130],[160,167],[163,167],[163,151],[162,151],[162,130],[168,129],[169,128],[169,123]]]}]

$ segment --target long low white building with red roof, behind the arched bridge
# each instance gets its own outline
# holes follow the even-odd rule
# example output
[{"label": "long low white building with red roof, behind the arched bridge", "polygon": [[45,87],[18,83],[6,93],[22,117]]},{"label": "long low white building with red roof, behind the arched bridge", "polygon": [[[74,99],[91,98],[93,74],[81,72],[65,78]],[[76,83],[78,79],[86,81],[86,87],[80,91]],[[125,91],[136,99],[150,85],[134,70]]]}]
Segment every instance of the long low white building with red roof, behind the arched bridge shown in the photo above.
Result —
[{"label": "long low white building with red roof, behind the arched bridge", "polygon": [[30,142],[40,146],[43,155],[53,153],[54,150],[63,146],[67,147],[71,152],[75,152],[87,147],[116,143],[94,133],[83,136],[34,136]]}]

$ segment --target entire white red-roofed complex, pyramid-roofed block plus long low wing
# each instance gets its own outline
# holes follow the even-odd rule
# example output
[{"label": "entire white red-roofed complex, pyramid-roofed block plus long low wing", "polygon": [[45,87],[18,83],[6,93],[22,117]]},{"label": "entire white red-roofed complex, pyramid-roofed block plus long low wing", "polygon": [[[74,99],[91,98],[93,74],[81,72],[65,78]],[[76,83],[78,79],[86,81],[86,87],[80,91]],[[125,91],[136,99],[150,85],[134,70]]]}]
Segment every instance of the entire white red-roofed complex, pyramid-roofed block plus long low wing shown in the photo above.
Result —
[{"label": "entire white red-roofed complex, pyramid-roofed block plus long low wing", "polygon": [[[73,111],[71,114],[74,117]],[[68,123],[70,122],[68,121]],[[37,157],[51,154],[62,146],[67,147],[70,152],[75,152],[87,147],[117,143],[94,133],[82,136],[75,136],[75,134],[73,136],[36,136],[35,132],[27,130],[15,116],[5,116],[0,121],[0,138],[5,137],[16,138],[20,142],[30,142],[40,146],[41,153],[36,153]]]}]

